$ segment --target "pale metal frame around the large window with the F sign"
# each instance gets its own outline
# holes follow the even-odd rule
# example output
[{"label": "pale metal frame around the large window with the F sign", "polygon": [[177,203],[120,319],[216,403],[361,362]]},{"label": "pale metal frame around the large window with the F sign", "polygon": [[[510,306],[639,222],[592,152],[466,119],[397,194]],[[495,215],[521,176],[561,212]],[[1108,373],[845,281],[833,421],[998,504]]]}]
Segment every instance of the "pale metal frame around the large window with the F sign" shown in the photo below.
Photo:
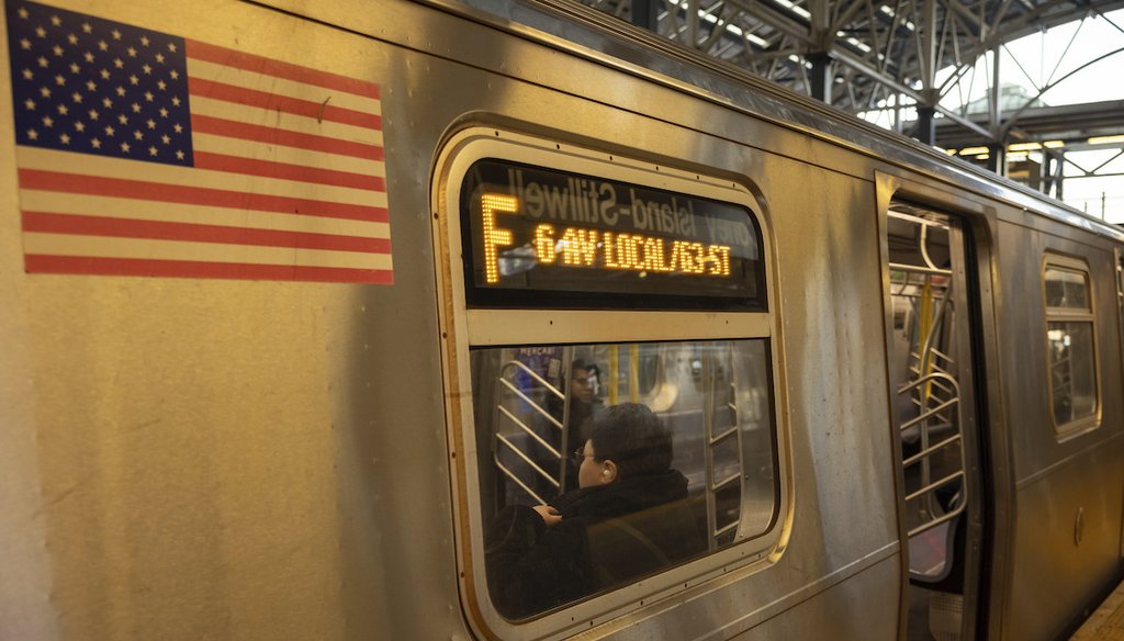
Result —
[{"label": "pale metal frame around the large window with the F sign", "polygon": [[[774,289],[774,252],[768,219],[758,198],[737,180],[680,171],[635,157],[622,157],[496,127],[470,126],[442,145],[432,180],[438,314],[442,332],[445,404],[448,416],[451,485],[454,491],[457,566],[462,604],[473,628],[488,637],[532,639],[588,630],[624,613],[665,607],[664,597],[728,575],[735,569],[764,568],[787,545],[792,523],[791,473],[783,349]],[[690,312],[635,309],[469,308],[465,300],[461,236],[461,192],[469,168],[481,159],[605,175],[622,182],[681,191],[744,207],[760,229],[767,310]],[[771,382],[777,461],[777,517],[762,534],[705,557],[643,578],[618,589],[568,604],[525,621],[504,619],[487,589],[479,502],[478,452],[473,424],[471,347],[579,343],[640,343],[764,338]],[[755,571],[746,569],[746,571]],[[661,603],[662,602],[662,603]]]}]

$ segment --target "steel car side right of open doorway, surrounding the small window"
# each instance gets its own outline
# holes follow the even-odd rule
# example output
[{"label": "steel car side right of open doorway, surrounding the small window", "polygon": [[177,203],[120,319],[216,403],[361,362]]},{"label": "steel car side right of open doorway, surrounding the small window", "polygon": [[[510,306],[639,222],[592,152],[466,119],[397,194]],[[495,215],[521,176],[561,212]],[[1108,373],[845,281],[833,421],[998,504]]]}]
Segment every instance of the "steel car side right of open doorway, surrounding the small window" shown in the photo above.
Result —
[{"label": "steel car side right of open doorway, surrounding the small window", "polygon": [[[1064,228],[1027,218],[1014,216],[1026,226],[1000,223],[999,237],[1004,306],[1022,310],[1007,315],[1009,329],[1000,336],[1017,484],[1008,632],[1045,638],[1069,631],[1116,571],[1124,470],[1120,396],[1111,390],[1121,385],[1114,356],[1120,334],[1109,249],[1063,238]],[[1076,434],[1055,432],[1050,381],[1042,373],[1048,359],[1042,268],[1028,268],[1051,255],[1084,256],[1096,310],[1098,421]]]}]

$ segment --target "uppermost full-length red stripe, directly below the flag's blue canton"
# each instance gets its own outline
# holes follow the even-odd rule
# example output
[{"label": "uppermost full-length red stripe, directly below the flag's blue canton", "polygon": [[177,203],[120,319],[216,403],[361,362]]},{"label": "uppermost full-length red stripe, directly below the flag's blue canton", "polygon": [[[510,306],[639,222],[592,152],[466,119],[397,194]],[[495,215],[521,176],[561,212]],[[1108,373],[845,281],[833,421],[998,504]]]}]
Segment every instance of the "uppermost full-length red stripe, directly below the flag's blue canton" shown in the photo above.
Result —
[{"label": "uppermost full-length red stripe, directly below the flag's blue canton", "polygon": [[19,187],[20,189],[85,193],[89,196],[108,196],[132,200],[153,200],[156,202],[178,202],[181,205],[205,205],[227,209],[250,209],[253,211],[271,211],[277,214],[324,216],[326,218],[345,218],[348,220],[386,223],[390,219],[384,207],[368,207],[344,202],[309,200],[306,198],[265,196],[225,189],[184,187],[161,182],[102,178],[33,169],[19,170]]}]

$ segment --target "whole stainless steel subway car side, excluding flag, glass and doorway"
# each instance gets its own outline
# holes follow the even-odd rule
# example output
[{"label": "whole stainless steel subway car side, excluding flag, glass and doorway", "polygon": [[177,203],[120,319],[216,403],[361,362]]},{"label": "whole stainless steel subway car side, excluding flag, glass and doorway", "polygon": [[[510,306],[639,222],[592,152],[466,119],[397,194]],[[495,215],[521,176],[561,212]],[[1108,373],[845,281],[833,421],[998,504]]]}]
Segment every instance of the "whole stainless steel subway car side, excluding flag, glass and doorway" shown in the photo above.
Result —
[{"label": "whole stainless steel subway car side, excluding flag, glass and doorway", "polygon": [[[478,497],[464,471],[475,461],[463,458],[484,454],[459,441],[471,426],[455,410],[471,397],[457,379],[468,313],[443,269],[462,256],[442,245],[451,224],[442,202],[459,189],[442,159],[469,130],[534,138],[547,160],[616,156],[609,162],[698,172],[746,191],[765,231],[777,323],[779,547],[750,565],[694,561],[653,577],[651,589],[641,581],[618,592],[636,599],[595,598],[569,611],[568,626],[532,621],[505,629],[514,638],[898,635],[908,563],[883,294],[886,184],[899,182],[994,234],[975,240],[996,258],[978,278],[999,283],[995,298],[987,287],[978,294],[995,327],[980,337],[989,344],[975,376],[1003,406],[981,427],[1010,439],[1017,494],[999,493],[988,516],[994,532],[1014,533],[1012,549],[992,550],[1013,569],[990,584],[992,608],[1003,610],[988,615],[989,630],[1009,639],[1063,630],[1118,574],[1124,408],[1113,394],[1122,346],[1107,231],[1067,240],[1076,228],[1059,219],[1096,226],[1053,206],[1043,206],[1053,216],[1045,223],[1021,214],[1009,202],[1036,200],[959,165],[933,169],[934,154],[908,145],[880,155],[892,145],[846,141],[858,126],[835,117],[828,134],[809,135],[818,108],[752,96],[726,73],[689,87],[689,58],[679,54],[653,65],[662,71],[642,69],[653,48],[580,9],[581,19],[558,28],[608,54],[444,3],[52,4],[379,84],[392,283],[28,274],[19,183],[16,171],[4,173],[0,290],[16,304],[0,308],[10,337],[0,405],[11,425],[0,448],[0,542],[12,550],[0,595],[18,607],[0,613],[0,635],[497,634],[498,615],[480,614],[488,595],[471,578],[483,568],[464,553],[475,535],[468,504]],[[537,3],[492,9],[529,24],[565,13]],[[9,147],[18,108],[0,101]],[[967,191],[957,193],[957,180]],[[1097,313],[1100,423],[1060,442],[1050,408],[1026,401],[1049,395],[1045,319],[1027,300],[1041,304],[1041,270],[1025,264],[1046,249],[1085,256]],[[543,343],[651,341],[660,318],[671,320],[669,336],[695,331],[689,310],[651,313],[646,333],[629,327],[644,313],[535,314],[558,322],[520,329]],[[769,323],[726,318],[732,337]],[[578,327],[586,322],[592,328]],[[717,322],[698,327],[714,332]],[[515,335],[505,332],[477,337]],[[979,464],[1003,473],[1006,453],[995,448]],[[672,575],[687,577],[682,589]]]}]

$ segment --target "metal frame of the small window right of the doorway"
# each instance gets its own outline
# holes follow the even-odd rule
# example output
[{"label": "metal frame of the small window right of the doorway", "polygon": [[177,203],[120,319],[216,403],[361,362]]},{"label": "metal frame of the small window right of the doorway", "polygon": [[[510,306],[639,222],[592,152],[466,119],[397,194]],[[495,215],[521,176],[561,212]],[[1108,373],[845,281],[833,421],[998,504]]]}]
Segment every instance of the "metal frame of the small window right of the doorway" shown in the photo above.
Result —
[{"label": "metal frame of the small window right of the doorway", "polygon": [[[1046,272],[1049,270],[1060,270],[1069,273],[1076,273],[1085,280],[1086,297],[1088,300],[1088,306],[1086,308],[1075,308],[1075,307],[1050,307],[1046,294]],[[1068,441],[1081,434],[1091,432],[1100,426],[1100,416],[1104,407],[1103,396],[1102,396],[1102,382],[1100,382],[1100,358],[1097,350],[1097,314],[1096,314],[1096,296],[1094,292],[1094,281],[1093,271],[1089,269],[1088,263],[1084,259],[1071,258],[1053,252],[1045,252],[1042,259],[1041,269],[1041,288],[1042,288],[1042,310],[1043,310],[1043,329],[1045,337],[1045,352],[1043,354],[1045,361],[1045,379],[1046,379],[1046,404],[1048,404],[1048,416],[1050,417],[1050,425],[1053,427],[1054,439],[1058,442]],[[1054,412],[1054,381],[1053,381],[1053,363],[1050,356],[1050,324],[1051,323],[1088,323],[1089,324],[1089,335],[1091,342],[1093,351],[1093,378],[1094,378],[1094,410],[1093,414],[1075,418],[1067,423],[1058,423],[1057,414]]]}]

